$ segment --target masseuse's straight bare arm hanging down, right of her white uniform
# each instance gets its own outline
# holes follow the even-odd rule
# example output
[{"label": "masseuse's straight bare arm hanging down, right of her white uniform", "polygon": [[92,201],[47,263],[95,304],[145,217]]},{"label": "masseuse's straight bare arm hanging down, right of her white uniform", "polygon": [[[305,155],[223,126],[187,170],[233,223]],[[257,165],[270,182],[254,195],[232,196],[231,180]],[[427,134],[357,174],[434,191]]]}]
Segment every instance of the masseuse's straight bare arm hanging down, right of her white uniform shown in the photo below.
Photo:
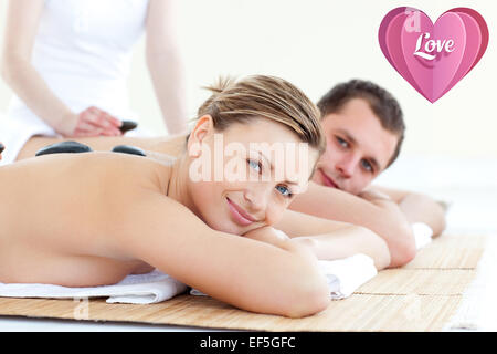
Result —
[{"label": "masseuse's straight bare arm hanging down, right of her white uniform", "polygon": [[184,83],[177,44],[177,24],[171,0],[150,0],[147,15],[146,58],[169,134],[188,129]]}]

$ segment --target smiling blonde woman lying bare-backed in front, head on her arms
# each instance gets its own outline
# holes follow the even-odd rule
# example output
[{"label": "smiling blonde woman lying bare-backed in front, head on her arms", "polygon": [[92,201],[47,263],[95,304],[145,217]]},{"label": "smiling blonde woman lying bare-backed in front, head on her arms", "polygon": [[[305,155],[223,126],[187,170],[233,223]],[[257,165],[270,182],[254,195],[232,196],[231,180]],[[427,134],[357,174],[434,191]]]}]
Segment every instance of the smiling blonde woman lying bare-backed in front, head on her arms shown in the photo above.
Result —
[{"label": "smiling blonde woman lying bare-backed in front, head on her arms", "polygon": [[[157,268],[248,311],[324,310],[318,259],[366,253],[382,269],[390,254],[366,228],[284,214],[322,152],[318,116],[289,83],[253,76],[214,90],[177,159],[94,152],[0,167],[0,282],[95,287]],[[264,144],[308,148],[277,158]],[[243,178],[223,178],[233,170]]]}]

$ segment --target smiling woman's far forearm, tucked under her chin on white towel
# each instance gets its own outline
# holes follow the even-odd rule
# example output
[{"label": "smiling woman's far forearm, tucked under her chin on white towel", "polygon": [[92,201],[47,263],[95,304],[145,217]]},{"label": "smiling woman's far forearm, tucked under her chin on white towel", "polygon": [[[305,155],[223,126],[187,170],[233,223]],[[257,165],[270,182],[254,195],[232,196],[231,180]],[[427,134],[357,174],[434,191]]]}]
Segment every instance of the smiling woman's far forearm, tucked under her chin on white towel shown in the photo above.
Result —
[{"label": "smiling woman's far forearm, tucked under her chin on white towel", "polygon": [[275,228],[290,237],[292,242],[307,247],[320,260],[363,253],[373,259],[378,270],[390,264],[387,242],[364,227],[287,210]]}]

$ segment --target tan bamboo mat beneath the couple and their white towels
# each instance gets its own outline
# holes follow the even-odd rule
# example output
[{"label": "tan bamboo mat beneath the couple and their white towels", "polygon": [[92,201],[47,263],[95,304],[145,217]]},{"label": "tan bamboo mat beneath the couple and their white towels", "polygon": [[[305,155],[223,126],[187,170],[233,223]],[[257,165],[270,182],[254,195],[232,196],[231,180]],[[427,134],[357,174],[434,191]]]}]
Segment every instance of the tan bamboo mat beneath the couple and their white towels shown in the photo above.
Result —
[{"label": "tan bamboo mat beneath the couple and their white towels", "polygon": [[0,298],[0,315],[254,331],[442,331],[475,277],[484,242],[483,236],[442,236],[411,263],[381,271],[350,298],[305,319],[251,313],[187,294],[150,305]]}]

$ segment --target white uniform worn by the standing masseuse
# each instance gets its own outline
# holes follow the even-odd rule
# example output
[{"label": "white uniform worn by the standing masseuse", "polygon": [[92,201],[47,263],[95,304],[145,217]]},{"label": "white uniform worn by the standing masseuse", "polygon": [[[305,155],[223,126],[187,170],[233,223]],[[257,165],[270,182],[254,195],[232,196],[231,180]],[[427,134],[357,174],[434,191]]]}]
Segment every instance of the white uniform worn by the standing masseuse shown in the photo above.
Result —
[{"label": "white uniform worn by the standing masseuse", "polygon": [[[133,46],[145,31],[148,0],[46,0],[32,64],[74,113],[97,106],[138,121],[128,106]],[[0,164],[15,159],[33,135],[57,136],[17,96],[0,117]],[[126,136],[150,135],[140,125]]]}]

